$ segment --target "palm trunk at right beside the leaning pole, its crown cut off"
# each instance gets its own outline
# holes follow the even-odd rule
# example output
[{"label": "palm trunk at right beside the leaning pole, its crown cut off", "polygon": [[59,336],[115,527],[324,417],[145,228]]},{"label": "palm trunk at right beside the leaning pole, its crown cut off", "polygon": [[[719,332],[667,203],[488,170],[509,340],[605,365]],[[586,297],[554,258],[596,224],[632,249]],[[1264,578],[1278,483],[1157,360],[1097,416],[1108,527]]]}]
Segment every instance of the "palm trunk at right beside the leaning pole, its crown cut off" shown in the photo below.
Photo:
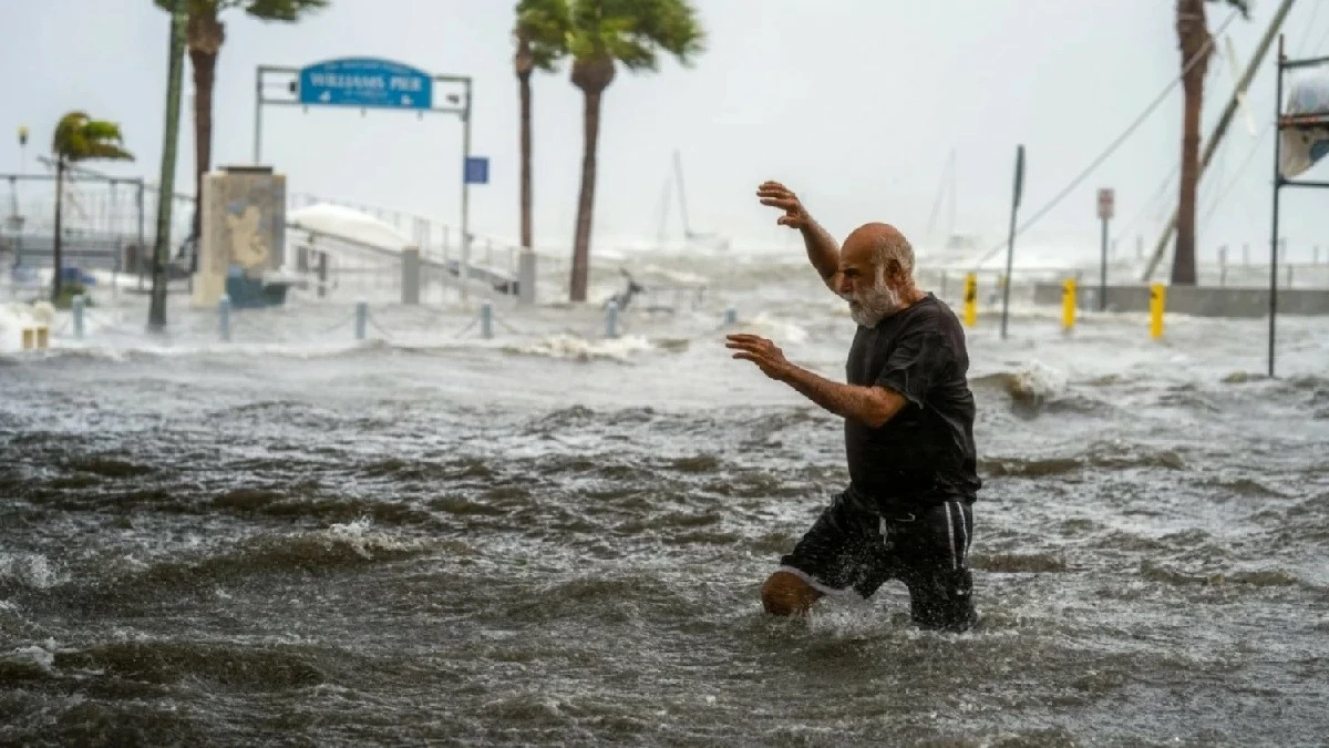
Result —
[{"label": "palm trunk at right beside the leaning pole, its crown cut off", "polygon": [[[1172,253],[1172,283],[1195,285],[1195,196],[1200,182],[1200,110],[1204,104],[1204,73],[1209,69],[1213,37],[1204,19],[1204,3],[1176,0],[1176,36],[1181,47],[1181,89],[1185,114],[1181,124],[1181,194],[1177,197],[1176,249]],[[1223,0],[1249,16],[1249,0]]]}]

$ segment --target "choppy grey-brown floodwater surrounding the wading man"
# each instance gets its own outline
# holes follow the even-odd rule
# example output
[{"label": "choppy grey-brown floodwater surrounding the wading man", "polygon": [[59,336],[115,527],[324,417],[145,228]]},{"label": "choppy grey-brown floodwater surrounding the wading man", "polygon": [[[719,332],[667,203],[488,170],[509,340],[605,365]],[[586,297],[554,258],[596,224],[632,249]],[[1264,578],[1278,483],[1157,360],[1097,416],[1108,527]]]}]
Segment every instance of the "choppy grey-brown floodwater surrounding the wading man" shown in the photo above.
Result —
[{"label": "choppy grey-brown floodwater surrounding the wading man", "polygon": [[1325,744],[1329,326],[1281,319],[1271,381],[1263,321],[985,315],[981,624],[893,583],[775,620],[843,435],[720,322],[843,378],[804,273],[617,341],[376,305],[356,343],[300,298],[157,339],[121,299],[0,353],[0,743]]}]

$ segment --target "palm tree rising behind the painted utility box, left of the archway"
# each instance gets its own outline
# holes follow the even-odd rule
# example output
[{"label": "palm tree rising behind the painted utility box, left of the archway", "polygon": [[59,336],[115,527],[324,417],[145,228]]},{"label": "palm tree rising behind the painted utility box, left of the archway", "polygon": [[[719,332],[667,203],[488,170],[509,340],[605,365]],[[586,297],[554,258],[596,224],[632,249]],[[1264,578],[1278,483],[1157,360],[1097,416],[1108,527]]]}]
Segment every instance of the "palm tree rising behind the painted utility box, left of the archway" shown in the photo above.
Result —
[{"label": "palm tree rising behind the painted utility box, left of the archway", "polygon": [[[199,234],[202,221],[203,174],[213,168],[213,87],[217,83],[217,55],[226,43],[226,24],[219,16],[242,8],[263,21],[295,23],[308,12],[327,7],[330,0],[187,0],[189,20],[186,47],[194,71],[194,226]],[[171,12],[175,0],[153,0]]]}]

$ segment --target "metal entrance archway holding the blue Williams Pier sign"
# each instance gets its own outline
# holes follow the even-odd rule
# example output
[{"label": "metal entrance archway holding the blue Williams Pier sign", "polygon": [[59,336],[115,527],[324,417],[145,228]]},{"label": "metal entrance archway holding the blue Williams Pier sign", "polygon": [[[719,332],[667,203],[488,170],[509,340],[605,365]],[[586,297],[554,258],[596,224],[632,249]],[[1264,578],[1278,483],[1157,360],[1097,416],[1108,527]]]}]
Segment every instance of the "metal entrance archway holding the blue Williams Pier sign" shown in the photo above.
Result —
[{"label": "metal entrance archway holding the blue Williams Pier sign", "polygon": [[[440,85],[441,84],[441,85]],[[460,91],[447,91],[448,87]],[[441,91],[440,91],[441,89]],[[440,96],[441,93],[441,96]],[[440,101],[443,105],[440,105]],[[377,57],[343,57],[304,68],[259,65],[254,92],[254,164],[263,157],[263,106],[396,109],[461,117],[461,293],[470,272],[470,185],[488,181],[488,161],[470,156],[472,81],[431,75]]]}]

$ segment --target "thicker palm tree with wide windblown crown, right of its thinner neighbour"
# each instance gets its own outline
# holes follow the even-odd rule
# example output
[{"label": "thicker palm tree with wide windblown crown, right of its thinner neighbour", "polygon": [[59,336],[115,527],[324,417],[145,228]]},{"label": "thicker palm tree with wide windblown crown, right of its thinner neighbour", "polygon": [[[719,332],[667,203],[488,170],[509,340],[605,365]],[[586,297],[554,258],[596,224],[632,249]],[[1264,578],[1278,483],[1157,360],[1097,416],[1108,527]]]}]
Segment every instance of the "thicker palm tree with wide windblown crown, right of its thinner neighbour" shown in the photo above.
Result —
[{"label": "thicker palm tree with wide windblown crown, right of its thinner neighbour", "polygon": [[662,51],[687,65],[703,45],[704,32],[688,0],[573,0],[567,49],[573,56],[573,85],[585,96],[585,141],[573,240],[571,301],[586,301],[601,96],[613,83],[618,65],[631,72],[655,72]]}]

